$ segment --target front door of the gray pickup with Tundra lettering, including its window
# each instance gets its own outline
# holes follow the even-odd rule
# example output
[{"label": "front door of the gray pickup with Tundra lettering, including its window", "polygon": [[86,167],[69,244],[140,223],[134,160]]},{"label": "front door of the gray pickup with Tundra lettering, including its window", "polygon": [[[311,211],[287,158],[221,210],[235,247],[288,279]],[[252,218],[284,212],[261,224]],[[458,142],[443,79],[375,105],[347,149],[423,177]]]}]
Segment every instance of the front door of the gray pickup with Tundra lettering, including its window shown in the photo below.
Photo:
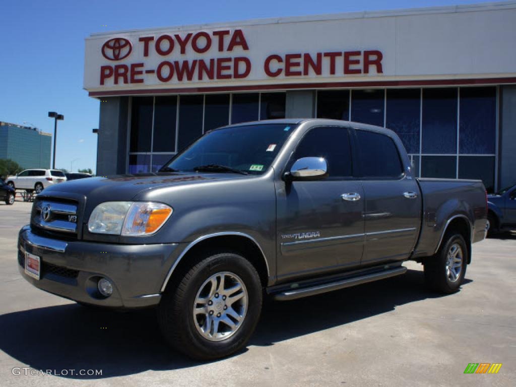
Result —
[{"label": "front door of the gray pickup with Tundra lettering, including its window", "polygon": [[[353,178],[350,138],[346,127],[313,127],[301,139],[287,164],[290,170],[300,158],[324,157],[328,176],[316,181],[279,183],[279,281],[360,266],[364,246],[364,193],[362,184]],[[354,199],[349,199],[350,194]]]}]

